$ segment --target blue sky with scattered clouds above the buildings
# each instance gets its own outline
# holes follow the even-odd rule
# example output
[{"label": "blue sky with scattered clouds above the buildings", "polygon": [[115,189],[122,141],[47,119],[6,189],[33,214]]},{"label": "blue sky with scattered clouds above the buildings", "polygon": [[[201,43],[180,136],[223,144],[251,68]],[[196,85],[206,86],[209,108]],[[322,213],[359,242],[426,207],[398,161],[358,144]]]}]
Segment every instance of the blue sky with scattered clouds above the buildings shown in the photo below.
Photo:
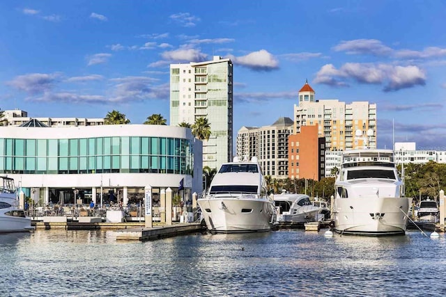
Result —
[{"label": "blue sky with scattered clouds above the buildings", "polygon": [[316,99],[369,101],[378,147],[446,150],[446,2],[0,1],[0,109],[169,120],[169,64],[234,63],[234,130]]}]

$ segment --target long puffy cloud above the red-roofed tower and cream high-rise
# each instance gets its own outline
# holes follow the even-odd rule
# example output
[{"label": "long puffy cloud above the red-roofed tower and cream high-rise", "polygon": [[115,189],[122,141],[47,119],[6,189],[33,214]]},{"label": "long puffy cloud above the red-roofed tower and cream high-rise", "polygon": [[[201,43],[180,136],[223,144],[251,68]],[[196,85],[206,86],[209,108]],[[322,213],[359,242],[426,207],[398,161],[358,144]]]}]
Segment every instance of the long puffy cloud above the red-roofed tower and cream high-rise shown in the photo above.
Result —
[{"label": "long puffy cloud above the red-roofed tower and cream high-rise", "polygon": [[396,91],[413,86],[424,86],[426,74],[414,65],[399,66],[372,63],[346,63],[339,70],[332,64],[321,67],[314,83],[330,86],[348,86],[346,81],[354,79],[359,83],[384,84],[385,92]]}]

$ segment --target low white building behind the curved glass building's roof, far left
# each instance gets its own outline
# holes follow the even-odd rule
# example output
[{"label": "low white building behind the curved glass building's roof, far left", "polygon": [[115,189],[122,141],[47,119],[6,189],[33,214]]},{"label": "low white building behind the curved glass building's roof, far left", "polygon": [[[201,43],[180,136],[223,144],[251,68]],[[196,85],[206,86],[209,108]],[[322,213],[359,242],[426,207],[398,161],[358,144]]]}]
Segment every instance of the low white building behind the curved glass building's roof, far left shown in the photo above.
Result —
[{"label": "low white building behind the curved glass building's roof, far left", "polygon": [[[32,118],[43,123],[47,127],[61,126],[99,126],[104,125],[103,118]],[[8,121],[8,126],[20,126],[29,122],[31,118],[26,111],[20,109],[3,111],[3,120]]]}]

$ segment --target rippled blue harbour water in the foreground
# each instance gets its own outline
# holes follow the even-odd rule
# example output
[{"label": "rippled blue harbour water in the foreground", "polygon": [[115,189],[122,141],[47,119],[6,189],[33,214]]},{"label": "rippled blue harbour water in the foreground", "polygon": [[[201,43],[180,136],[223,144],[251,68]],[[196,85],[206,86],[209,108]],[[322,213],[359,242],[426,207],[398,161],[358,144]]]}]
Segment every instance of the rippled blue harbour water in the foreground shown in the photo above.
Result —
[{"label": "rippled blue harbour water in the foreground", "polygon": [[116,241],[113,231],[0,234],[0,296],[442,296],[446,238],[324,231]]}]

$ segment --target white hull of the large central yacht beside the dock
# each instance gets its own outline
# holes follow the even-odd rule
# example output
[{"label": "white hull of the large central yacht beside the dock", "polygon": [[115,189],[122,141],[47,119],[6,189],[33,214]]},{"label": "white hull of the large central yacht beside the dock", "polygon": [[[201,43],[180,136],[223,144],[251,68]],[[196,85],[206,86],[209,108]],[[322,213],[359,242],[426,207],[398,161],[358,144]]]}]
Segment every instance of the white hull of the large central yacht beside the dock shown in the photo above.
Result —
[{"label": "white hull of the large central yacht beside the dock", "polygon": [[213,233],[270,231],[274,221],[274,206],[266,199],[201,198],[197,203]]}]

